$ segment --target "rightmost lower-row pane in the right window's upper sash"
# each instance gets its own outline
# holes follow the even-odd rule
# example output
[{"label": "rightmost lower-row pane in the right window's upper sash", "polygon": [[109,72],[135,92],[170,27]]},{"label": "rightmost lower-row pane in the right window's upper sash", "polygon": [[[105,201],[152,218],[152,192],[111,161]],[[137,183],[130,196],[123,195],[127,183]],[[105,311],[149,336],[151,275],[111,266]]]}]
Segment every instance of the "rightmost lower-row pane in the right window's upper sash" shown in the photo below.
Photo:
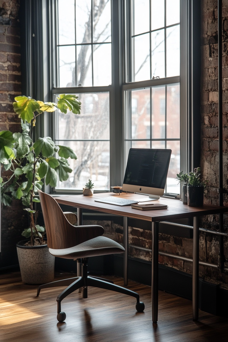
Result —
[{"label": "rightmost lower-row pane in the right window's upper sash", "polygon": [[166,30],[166,76],[180,75],[180,26]]}]

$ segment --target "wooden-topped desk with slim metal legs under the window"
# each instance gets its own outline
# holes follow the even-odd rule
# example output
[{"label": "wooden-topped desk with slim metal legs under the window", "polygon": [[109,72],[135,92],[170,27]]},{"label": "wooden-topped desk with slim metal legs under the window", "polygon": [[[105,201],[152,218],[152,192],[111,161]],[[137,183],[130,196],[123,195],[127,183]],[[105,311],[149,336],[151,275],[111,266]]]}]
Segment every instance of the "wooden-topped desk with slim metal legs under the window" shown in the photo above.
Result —
[{"label": "wooden-topped desk with slim metal legs under the window", "polygon": [[[123,245],[126,250],[124,253],[124,285],[127,285],[128,278],[128,225],[127,218],[141,219],[152,223],[152,321],[158,320],[158,238],[159,221],[169,221],[171,219],[184,219],[193,217],[193,264],[192,264],[192,316],[193,320],[198,319],[199,315],[199,216],[219,214],[228,211],[228,207],[203,206],[188,207],[183,205],[182,201],[168,198],[160,198],[156,203],[162,203],[169,206],[168,209],[160,210],[137,210],[131,206],[115,206],[106,203],[95,202],[95,199],[101,197],[118,196],[113,193],[94,194],[93,196],[71,195],[56,197],[59,204],[64,204],[78,208],[79,225],[82,224],[82,209],[96,210],[100,212],[116,214],[123,216]],[[124,194],[122,198],[139,199],[142,195]]]}]

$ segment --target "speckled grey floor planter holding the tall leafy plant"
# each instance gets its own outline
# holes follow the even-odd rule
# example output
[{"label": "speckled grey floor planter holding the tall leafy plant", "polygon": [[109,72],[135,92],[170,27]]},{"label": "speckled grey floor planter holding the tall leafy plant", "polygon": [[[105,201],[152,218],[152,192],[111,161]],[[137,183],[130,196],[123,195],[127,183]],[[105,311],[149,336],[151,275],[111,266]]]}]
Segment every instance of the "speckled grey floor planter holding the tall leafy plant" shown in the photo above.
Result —
[{"label": "speckled grey floor planter holding the tall leafy plant", "polygon": [[27,240],[18,242],[17,255],[22,281],[26,284],[45,284],[54,279],[55,257],[48,245],[24,246]]}]

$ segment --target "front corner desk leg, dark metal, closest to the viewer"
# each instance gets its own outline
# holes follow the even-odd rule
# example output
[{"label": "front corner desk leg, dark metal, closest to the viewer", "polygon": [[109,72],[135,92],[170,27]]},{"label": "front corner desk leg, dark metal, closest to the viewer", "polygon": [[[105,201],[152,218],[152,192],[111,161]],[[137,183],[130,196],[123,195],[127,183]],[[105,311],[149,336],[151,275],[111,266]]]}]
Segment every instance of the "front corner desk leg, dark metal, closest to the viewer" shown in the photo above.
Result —
[{"label": "front corner desk leg, dark metal, closest to the viewer", "polygon": [[152,321],[158,321],[158,222],[152,222]]}]

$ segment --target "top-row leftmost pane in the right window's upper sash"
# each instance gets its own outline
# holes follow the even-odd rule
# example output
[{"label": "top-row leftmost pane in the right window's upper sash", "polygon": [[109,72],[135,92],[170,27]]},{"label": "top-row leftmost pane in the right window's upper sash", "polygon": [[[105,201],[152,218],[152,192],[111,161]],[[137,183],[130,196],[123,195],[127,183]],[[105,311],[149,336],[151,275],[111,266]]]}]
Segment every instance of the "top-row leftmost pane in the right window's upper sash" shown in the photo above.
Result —
[{"label": "top-row leftmost pane in the right window's upper sash", "polygon": [[150,30],[150,1],[134,1],[134,35]]}]

